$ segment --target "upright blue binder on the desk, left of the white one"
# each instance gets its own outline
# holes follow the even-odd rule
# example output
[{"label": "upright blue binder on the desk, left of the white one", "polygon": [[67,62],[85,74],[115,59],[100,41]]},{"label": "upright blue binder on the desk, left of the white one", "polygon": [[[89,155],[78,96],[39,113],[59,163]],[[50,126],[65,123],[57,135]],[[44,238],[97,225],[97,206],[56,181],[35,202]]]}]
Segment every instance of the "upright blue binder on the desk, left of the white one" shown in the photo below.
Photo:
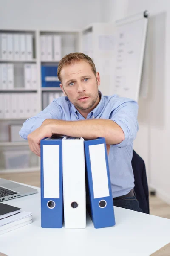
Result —
[{"label": "upright blue binder on the desk, left of the white one", "polygon": [[62,139],[45,138],[41,149],[41,227],[63,224]]}]

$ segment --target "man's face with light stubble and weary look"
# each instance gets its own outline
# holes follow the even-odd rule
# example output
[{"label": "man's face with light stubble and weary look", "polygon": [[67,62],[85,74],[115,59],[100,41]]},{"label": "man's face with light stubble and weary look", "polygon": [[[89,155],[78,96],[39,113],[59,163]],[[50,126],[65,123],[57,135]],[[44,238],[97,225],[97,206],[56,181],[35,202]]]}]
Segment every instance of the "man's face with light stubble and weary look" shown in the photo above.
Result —
[{"label": "man's face with light stubble and weary look", "polygon": [[94,75],[88,62],[79,61],[64,66],[61,79],[60,87],[63,93],[80,113],[89,113],[98,105],[100,76],[98,72]]}]

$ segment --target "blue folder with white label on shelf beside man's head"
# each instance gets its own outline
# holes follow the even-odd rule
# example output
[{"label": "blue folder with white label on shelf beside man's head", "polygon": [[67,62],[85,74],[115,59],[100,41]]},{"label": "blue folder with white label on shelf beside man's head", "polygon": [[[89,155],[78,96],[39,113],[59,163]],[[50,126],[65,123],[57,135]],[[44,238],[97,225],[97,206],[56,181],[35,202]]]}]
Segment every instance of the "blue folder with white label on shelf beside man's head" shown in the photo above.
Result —
[{"label": "blue folder with white label on shelf beside man's head", "polygon": [[58,66],[41,66],[42,87],[60,87],[57,77]]}]

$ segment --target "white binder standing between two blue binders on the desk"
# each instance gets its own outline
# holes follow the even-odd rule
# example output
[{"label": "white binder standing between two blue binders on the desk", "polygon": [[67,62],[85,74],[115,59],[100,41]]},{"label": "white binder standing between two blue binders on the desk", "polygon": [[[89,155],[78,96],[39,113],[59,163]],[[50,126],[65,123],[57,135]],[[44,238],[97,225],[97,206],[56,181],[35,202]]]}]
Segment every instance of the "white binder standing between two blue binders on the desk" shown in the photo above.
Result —
[{"label": "white binder standing between two blue binders on the desk", "polygon": [[65,228],[86,227],[84,139],[62,139]]}]

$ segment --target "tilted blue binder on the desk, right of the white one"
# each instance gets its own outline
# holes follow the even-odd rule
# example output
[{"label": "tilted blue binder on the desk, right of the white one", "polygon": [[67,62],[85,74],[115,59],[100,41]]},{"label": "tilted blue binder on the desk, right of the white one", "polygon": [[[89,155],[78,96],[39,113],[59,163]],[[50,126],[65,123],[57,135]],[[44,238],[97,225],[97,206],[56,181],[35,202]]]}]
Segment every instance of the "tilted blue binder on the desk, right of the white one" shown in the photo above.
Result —
[{"label": "tilted blue binder on the desk, right of the white one", "polygon": [[105,138],[85,140],[84,144],[90,201],[88,205],[87,200],[88,212],[95,228],[114,226],[115,216]]}]

